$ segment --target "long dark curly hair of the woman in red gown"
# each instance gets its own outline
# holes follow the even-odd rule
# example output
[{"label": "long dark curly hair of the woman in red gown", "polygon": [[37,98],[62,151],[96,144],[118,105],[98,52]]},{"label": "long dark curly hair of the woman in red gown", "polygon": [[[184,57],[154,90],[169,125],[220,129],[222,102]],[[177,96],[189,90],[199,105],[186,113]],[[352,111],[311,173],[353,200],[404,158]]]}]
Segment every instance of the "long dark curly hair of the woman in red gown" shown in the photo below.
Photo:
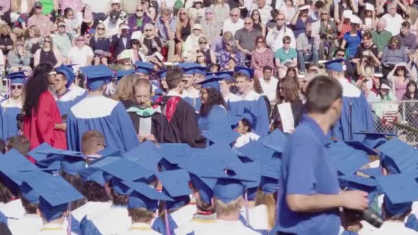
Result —
[{"label": "long dark curly hair of the woman in red gown", "polygon": [[48,63],[41,63],[34,68],[32,78],[25,85],[25,103],[23,111],[26,117],[32,117],[32,111],[38,111],[39,97],[50,87],[48,74],[54,67]]}]

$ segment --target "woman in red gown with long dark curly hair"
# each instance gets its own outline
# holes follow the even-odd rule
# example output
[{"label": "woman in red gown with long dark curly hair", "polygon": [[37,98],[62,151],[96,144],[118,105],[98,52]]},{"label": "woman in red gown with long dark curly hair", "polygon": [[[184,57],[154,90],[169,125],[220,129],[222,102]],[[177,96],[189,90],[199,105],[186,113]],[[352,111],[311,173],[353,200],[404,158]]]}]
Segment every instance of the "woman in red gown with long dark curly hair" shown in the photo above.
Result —
[{"label": "woman in red gown with long dark curly hair", "polygon": [[55,75],[52,65],[42,63],[34,68],[25,87],[23,134],[30,139],[31,150],[44,142],[54,148],[67,149],[65,131],[56,128],[63,120],[54,96],[48,90],[55,82]]}]

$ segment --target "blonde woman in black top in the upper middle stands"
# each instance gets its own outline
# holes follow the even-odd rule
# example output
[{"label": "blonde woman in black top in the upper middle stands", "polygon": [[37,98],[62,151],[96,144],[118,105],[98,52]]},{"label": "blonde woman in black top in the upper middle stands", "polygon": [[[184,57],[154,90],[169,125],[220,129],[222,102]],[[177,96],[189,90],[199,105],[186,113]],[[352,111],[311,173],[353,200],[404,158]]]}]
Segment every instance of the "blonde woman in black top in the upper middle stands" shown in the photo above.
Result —
[{"label": "blonde woman in black top in the upper middle stands", "polygon": [[181,54],[183,52],[183,43],[186,42],[186,39],[192,33],[192,25],[194,24],[193,21],[190,20],[187,11],[185,8],[180,8],[179,12],[177,12],[177,20],[176,20],[176,27],[175,27],[175,38],[177,40],[176,49],[177,54]]}]

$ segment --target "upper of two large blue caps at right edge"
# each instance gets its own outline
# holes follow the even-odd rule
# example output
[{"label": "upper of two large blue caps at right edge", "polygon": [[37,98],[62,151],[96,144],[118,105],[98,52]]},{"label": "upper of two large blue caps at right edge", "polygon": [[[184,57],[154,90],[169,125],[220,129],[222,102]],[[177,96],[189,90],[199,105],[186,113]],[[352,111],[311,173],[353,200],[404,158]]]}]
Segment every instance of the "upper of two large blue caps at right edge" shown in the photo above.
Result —
[{"label": "upper of two large blue caps at right edge", "polygon": [[415,173],[418,172],[417,152],[414,148],[393,138],[377,147],[384,154],[381,160],[382,166],[391,173]]}]

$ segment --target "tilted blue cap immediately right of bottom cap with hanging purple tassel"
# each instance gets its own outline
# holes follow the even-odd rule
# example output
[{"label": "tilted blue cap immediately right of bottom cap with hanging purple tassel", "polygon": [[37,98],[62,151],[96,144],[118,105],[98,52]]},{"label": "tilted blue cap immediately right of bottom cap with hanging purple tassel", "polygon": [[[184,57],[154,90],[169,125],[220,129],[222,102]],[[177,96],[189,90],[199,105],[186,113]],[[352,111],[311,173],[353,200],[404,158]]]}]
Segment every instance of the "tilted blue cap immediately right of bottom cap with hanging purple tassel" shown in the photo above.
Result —
[{"label": "tilted blue cap immediately right of bottom cap with hanging purple tassel", "polygon": [[190,177],[186,170],[168,170],[158,172],[155,176],[161,181],[162,192],[174,201],[166,201],[166,209],[176,210],[190,202],[191,190],[188,186]]}]

